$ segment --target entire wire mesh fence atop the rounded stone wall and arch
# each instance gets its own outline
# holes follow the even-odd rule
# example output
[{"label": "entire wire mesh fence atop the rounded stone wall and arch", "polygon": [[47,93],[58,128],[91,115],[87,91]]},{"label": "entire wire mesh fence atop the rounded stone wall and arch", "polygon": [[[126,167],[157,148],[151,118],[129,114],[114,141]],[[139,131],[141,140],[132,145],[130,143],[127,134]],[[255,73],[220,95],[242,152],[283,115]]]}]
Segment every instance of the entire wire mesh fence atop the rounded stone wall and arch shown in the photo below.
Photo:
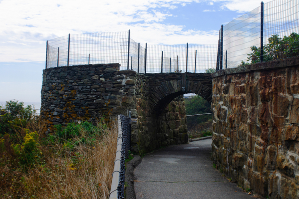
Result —
[{"label": "entire wire mesh fence atop the rounded stone wall and arch", "polygon": [[216,65],[217,45],[147,45],[128,32],[74,34],[47,41],[46,68],[120,63],[139,73],[205,72]]}]

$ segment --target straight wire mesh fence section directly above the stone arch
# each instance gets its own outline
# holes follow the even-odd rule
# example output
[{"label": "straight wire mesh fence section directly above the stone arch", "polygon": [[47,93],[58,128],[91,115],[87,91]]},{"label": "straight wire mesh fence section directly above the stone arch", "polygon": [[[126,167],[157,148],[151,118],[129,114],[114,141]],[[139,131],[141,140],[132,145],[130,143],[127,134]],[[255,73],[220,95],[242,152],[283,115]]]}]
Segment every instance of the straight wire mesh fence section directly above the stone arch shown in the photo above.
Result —
[{"label": "straight wire mesh fence section directly above the stone arch", "polygon": [[215,68],[217,45],[181,44],[148,45],[148,73],[194,72],[205,73]]}]

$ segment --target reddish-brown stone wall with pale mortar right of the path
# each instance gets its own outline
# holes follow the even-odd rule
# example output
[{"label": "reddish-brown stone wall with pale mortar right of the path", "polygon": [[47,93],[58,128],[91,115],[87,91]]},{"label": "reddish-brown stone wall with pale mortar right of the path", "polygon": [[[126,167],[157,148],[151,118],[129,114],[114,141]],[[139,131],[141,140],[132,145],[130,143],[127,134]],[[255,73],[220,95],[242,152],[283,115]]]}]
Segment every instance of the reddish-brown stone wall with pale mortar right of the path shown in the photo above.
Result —
[{"label": "reddish-brown stone wall with pale mortar right of the path", "polygon": [[213,74],[213,155],[244,189],[299,198],[299,58]]}]

